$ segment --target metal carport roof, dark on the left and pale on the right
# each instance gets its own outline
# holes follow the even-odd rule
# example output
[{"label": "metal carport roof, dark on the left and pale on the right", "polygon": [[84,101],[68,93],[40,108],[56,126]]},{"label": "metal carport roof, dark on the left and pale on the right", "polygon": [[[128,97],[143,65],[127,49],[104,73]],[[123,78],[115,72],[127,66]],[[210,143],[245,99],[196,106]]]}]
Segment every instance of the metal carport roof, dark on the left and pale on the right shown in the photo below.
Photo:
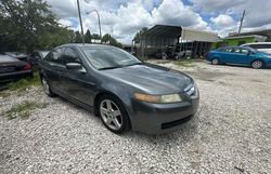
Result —
[{"label": "metal carport roof, dark on the left and pale on the right", "polygon": [[216,42],[217,39],[218,35],[214,32],[181,26],[156,25],[140,37],[140,52],[142,57],[155,56],[165,52],[167,45],[176,45],[180,41]]}]

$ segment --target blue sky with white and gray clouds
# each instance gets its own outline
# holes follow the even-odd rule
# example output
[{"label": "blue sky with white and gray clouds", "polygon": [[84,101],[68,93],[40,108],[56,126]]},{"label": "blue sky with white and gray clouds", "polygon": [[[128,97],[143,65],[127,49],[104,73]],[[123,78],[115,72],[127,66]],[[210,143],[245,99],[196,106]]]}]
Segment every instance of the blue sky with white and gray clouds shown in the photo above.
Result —
[{"label": "blue sky with white and gray clouds", "polygon": [[[76,0],[46,0],[60,23],[80,30]],[[79,0],[85,32],[99,34],[95,13],[101,16],[102,34],[111,34],[122,43],[131,43],[143,27],[175,25],[218,32],[227,37],[238,30],[246,10],[242,31],[271,28],[271,0]]]}]

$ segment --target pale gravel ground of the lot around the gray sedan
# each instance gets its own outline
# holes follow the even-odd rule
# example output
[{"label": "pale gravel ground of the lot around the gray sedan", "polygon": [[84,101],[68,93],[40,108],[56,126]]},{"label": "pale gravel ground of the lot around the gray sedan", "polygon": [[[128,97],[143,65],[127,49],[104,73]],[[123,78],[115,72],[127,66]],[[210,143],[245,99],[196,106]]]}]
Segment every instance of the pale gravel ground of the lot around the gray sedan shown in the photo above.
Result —
[{"label": "pale gravel ground of the lot around the gray sedan", "polygon": [[41,88],[0,97],[0,113],[47,103],[28,119],[0,116],[0,173],[271,173],[271,70],[195,63],[197,115],[164,135],[115,135],[92,113]]}]

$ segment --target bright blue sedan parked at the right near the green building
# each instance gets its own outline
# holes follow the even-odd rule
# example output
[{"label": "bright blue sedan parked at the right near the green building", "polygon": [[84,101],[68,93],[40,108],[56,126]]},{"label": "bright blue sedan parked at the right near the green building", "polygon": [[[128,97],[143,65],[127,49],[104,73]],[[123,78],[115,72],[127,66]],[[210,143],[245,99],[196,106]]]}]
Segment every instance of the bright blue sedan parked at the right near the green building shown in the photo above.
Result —
[{"label": "bright blue sedan parked at the right near the green building", "polygon": [[236,64],[253,68],[271,67],[271,54],[258,52],[247,46],[224,46],[206,54],[206,59],[212,65]]}]

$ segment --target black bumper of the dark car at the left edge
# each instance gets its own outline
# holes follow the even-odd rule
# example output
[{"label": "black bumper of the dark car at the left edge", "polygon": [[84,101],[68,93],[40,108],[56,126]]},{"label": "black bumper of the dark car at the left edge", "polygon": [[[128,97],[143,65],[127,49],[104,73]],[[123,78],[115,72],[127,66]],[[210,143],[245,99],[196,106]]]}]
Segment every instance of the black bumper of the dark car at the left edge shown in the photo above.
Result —
[{"label": "black bumper of the dark car at the left edge", "polygon": [[22,70],[15,72],[0,73],[0,83],[10,82],[13,80],[20,80],[22,78],[31,77],[33,70]]}]

